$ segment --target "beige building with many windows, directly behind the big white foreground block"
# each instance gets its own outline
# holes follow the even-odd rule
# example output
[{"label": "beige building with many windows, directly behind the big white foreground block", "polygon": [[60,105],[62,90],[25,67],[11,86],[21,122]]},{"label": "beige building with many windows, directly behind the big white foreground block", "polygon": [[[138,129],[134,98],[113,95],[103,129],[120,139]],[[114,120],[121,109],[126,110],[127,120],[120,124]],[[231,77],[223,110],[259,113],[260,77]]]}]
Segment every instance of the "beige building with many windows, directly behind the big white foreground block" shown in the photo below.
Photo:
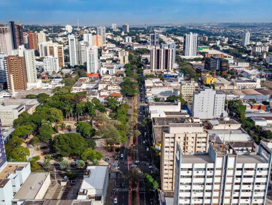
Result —
[{"label": "beige building with many windows, directly behind the big white foreground block", "polygon": [[184,154],[205,153],[208,136],[200,123],[170,123],[163,131],[160,178],[164,192],[174,191],[176,147],[179,145]]}]

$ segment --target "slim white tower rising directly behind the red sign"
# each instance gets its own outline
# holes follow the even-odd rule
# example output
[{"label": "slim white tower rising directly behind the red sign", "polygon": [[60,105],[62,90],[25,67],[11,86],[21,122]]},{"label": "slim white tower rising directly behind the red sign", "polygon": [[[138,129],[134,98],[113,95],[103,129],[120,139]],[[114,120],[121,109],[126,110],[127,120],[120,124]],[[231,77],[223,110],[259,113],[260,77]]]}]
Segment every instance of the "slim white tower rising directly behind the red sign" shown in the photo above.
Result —
[{"label": "slim white tower rising directly behind the red sign", "polygon": [[98,71],[98,49],[97,46],[88,46],[86,51],[87,73],[97,73]]}]

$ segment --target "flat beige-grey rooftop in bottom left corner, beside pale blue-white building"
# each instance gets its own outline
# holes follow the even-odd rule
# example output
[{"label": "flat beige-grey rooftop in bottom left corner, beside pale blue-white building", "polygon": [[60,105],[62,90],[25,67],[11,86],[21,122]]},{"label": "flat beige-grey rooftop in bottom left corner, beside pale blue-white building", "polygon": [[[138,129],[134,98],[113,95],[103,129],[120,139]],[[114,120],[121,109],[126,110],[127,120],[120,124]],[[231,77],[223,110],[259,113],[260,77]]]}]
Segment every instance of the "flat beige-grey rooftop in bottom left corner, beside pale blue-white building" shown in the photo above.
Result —
[{"label": "flat beige-grey rooftop in bottom left corner, beside pale blue-white building", "polygon": [[48,174],[47,172],[31,173],[13,199],[34,199]]}]

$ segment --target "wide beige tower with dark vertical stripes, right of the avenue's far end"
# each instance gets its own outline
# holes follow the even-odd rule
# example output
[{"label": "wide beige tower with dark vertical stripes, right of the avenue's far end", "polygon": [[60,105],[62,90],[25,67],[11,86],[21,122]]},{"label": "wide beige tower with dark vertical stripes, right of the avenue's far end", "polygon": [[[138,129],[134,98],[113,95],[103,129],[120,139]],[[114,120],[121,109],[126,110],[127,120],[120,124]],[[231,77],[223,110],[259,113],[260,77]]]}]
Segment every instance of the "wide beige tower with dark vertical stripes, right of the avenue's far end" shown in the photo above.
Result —
[{"label": "wide beige tower with dark vertical stripes, right of the avenue's far end", "polygon": [[173,49],[167,47],[150,50],[150,66],[152,70],[172,70],[173,69]]}]

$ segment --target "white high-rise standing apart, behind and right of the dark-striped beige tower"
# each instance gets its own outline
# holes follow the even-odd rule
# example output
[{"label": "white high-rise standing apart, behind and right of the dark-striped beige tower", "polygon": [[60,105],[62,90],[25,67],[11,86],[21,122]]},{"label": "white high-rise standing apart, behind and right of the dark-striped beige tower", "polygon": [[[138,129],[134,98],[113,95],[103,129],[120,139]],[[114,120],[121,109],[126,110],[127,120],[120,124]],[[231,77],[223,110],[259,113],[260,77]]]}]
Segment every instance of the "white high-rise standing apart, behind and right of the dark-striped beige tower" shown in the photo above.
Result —
[{"label": "white high-rise standing apart, behind and right of the dark-striped beige tower", "polygon": [[185,56],[196,56],[198,34],[185,34],[183,41],[183,53]]}]

